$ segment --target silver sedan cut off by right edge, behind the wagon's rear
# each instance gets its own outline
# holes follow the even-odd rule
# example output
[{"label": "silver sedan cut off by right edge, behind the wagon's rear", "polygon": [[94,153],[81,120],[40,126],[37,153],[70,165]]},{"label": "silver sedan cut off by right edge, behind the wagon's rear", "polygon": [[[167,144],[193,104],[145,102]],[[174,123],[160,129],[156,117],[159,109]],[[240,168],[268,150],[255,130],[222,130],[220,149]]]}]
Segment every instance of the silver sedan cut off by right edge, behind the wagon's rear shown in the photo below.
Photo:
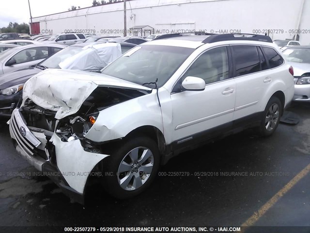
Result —
[{"label": "silver sedan cut off by right edge, behind the wagon's rear", "polygon": [[294,68],[294,101],[310,102],[310,46],[293,46],[283,56]]}]

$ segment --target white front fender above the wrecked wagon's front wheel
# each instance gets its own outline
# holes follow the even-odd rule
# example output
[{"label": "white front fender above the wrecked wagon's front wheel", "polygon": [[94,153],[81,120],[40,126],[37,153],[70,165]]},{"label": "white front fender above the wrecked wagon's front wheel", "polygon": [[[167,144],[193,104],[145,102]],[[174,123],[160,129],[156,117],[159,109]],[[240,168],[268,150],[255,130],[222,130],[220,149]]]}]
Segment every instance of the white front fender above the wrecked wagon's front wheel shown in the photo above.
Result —
[{"label": "white front fender above the wrecked wagon's front wheel", "polygon": [[149,95],[122,102],[100,111],[93,127],[85,137],[104,142],[125,137],[141,126],[154,126],[163,133],[161,109],[156,90]]}]

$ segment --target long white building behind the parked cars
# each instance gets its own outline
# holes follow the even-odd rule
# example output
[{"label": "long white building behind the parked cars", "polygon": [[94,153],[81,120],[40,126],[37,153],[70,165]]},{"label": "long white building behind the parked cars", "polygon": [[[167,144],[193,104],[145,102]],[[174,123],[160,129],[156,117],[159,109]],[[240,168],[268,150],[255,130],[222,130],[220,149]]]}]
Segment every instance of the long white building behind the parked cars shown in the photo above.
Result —
[{"label": "long white building behind the parked cars", "polygon": [[[298,34],[301,44],[310,44],[310,0],[127,0],[126,8],[128,30],[145,25],[154,28],[155,34],[194,30],[267,33],[273,40],[292,39]],[[32,33],[79,30],[122,35],[124,2],[35,17],[32,21]],[[153,32],[142,28],[142,35],[149,33]]]}]

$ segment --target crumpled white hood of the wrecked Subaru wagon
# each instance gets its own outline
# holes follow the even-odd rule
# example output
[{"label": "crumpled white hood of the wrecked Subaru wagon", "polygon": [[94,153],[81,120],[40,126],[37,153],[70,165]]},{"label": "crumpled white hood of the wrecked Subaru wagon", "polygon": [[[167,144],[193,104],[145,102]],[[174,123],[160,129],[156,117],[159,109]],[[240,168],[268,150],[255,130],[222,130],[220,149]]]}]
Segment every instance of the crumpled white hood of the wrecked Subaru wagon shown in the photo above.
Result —
[{"label": "crumpled white hood of the wrecked Subaru wagon", "polygon": [[62,119],[78,112],[83,102],[98,86],[136,90],[151,88],[108,75],[67,69],[47,69],[29,79],[23,89],[23,99],[56,111]]}]

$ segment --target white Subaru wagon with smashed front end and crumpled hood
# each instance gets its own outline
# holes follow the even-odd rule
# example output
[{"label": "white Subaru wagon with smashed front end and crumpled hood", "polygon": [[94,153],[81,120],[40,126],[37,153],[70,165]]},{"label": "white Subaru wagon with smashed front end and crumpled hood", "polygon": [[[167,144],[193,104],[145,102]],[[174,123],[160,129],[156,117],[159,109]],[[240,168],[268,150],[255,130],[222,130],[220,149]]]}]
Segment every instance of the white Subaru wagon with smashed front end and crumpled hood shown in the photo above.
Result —
[{"label": "white Subaru wagon with smashed front end and crumpled hood", "polygon": [[124,199],[182,151],[251,127],[272,134],[293,96],[293,68],[270,37],[169,34],[102,74],[38,73],[9,125],[16,150],[73,200],[92,176]]}]

